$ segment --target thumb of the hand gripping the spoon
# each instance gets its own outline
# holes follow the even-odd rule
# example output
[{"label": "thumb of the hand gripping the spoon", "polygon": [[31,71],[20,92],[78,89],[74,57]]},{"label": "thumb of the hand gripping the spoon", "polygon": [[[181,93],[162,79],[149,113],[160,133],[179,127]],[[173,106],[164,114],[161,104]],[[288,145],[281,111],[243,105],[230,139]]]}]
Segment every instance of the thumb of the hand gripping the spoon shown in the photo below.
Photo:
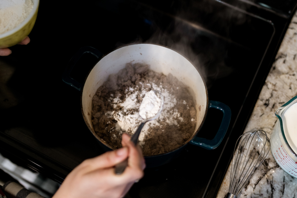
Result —
[{"label": "thumb of the hand gripping the spoon", "polygon": [[128,153],[129,151],[127,147],[123,147],[115,151],[108,151],[91,159],[90,164],[92,164],[94,169],[113,167],[121,161],[124,161],[124,159],[128,157]]}]

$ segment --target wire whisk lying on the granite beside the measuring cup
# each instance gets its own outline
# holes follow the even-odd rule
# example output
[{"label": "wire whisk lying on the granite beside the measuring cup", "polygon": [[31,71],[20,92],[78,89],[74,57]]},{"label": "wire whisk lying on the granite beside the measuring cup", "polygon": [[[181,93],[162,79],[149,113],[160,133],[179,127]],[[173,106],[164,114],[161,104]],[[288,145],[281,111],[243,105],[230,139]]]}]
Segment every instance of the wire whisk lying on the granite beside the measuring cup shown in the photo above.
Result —
[{"label": "wire whisk lying on the granite beside the measuring cup", "polygon": [[265,131],[242,134],[236,141],[231,164],[229,192],[226,198],[236,198],[270,150]]}]

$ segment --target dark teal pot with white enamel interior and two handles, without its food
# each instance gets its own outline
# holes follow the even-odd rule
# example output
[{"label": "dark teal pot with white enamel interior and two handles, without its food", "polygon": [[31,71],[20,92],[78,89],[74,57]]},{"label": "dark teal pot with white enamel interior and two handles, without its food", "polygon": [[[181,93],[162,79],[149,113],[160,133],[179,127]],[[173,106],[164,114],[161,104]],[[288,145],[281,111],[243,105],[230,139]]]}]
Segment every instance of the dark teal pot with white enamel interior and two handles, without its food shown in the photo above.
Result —
[{"label": "dark teal pot with white enamel interior and two handles, without its food", "polygon": [[[70,78],[69,73],[83,53],[91,53],[98,57],[99,61],[95,64],[93,69],[91,69],[84,85],[81,85],[74,79]],[[192,137],[173,151],[152,156],[162,156],[162,158],[164,158],[166,154],[172,154],[174,151],[184,147],[187,143],[195,144],[206,149],[214,149],[220,144],[229,126],[231,117],[230,108],[220,102],[208,102],[208,93],[205,82],[197,69],[189,60],[187,60],[187,58],[168,47],[144,43],[126,45],[108,53],[102,58],[101,56],[102,54],[92,47],[81,48],[70,60],[69,65],[63,74],[63,80],[65,83],[82,91],[81,105],[83,118],[92,134],[97,138],[100,145],[102,145],[105,150],[110,150],[112,148],[94,132],[91,122],[92,97],[95,95],[97,89],[103,84],[103,82],[108,79],[110,74],[116,74],[120,69],[125,67],[126,63],[129,62],[149,64],[150,69],[155,72],[161,72],[165,75],[171,73],[173,76],[177,77],[178,80],[182,81],[185,85],[191,88],[191,94],[195,99],[197,123],[195,130],[191,132]],[[202,127],[206,118],[208,108],[217,108],[224,113],[220,129],[213,140],[196,137],[196,134]]]}]

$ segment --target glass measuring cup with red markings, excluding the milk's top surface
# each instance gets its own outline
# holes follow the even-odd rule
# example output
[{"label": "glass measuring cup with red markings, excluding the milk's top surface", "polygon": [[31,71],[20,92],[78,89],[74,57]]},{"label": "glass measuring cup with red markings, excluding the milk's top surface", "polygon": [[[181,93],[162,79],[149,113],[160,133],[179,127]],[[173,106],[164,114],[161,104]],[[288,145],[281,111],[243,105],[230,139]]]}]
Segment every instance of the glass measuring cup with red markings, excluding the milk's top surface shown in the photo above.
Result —
[{"label": "glass measuring cup with red markings, excluding the milk's top surface", "polygon": [[290,99],[286,104],[279,107],[275,112],[278,120],[272,129],[271,153],[277,164],[288,174],[297,178],[297,154],[289,145],[285,137],[282,115],[293,104],[297,103],[297,96]]}]

